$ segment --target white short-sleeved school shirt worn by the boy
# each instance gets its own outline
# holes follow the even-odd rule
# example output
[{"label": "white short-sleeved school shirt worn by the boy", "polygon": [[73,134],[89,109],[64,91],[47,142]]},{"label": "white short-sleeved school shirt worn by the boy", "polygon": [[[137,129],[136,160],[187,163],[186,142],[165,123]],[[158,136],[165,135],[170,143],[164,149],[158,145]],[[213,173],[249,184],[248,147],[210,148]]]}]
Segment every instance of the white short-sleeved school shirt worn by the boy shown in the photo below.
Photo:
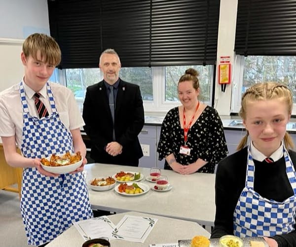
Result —
[{"label": "white short-sleeved school shirt worn by the boy", "polygon": [[[38,117],[34,98],[35,91],[28,87],[24,81],[23,85],[26,91],[30,114]],[[49,82],[49,85],[62,123],[69,130],[82,127],[84,121],[73,92],[57,83]],[[45,105],[48,114],[51,114],[46,84],[38,93],[41,94],[40,100]],[[16,136],[17,145],[20,148],[23,142],[23,108],[20,98],[20,83],[0,92],[0,136],[10,137],[14,135]]]}]

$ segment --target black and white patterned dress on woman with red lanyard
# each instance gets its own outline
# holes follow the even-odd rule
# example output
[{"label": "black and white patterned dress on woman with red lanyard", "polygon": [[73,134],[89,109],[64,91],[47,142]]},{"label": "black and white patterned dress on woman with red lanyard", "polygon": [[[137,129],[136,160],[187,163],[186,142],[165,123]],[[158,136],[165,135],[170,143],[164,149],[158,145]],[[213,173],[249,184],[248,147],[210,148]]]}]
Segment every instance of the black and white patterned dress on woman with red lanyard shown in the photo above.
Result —
[{"label": "black and white patterned dress on woman with red lanyard", "polygon": [[[228,153],[223,125],[216,109],[206,106],[187,134],[186,146],[191,148],[190,155],[181,154],[180,147],[184,146],[184,129],[181,128],[179,109],[171,109],[165,116],[157,147],[158,159],[174,153],[178,163],[188,165],[198,158],[208,161],[197,172],[214,173],[215,166]],[[164,169],[172,170],[167,161]]]}]

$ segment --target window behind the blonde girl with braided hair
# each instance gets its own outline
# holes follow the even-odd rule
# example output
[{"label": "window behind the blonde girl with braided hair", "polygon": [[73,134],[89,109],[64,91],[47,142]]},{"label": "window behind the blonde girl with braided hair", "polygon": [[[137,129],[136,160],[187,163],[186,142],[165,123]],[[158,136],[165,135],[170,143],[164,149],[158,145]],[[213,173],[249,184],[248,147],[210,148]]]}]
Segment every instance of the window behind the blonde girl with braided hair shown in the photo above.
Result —
[{"label": "window behind the blonde girl with braided hair", "polygon": [[[296,56],[236,56],[232,112],[239,112],[242,94],[259,82],[279,82],[293,92],[296,105]],[[293,114],[296,114],[294,107]]]}]

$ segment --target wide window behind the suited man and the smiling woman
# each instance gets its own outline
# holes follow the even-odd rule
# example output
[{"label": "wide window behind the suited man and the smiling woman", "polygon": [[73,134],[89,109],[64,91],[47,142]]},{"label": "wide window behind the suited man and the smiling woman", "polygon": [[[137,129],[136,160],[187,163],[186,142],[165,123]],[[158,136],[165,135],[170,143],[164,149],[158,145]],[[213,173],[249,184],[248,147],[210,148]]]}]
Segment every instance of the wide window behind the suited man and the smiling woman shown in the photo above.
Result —
[{"label": "wide window behind the suited man and the smiling woman", "polygon": [[[140,86],[146,112],[167,112],[180,104],[177,93],[179,78],[187,68],[199,72],[199,99],[211,105],[213,91],[213,65],[130,67],[121,68],[119,75],[124,81]],[[82,112],[86,88],[103,80],[99,68],[80,68],[59,70],[61,84],[70,88]]]}]

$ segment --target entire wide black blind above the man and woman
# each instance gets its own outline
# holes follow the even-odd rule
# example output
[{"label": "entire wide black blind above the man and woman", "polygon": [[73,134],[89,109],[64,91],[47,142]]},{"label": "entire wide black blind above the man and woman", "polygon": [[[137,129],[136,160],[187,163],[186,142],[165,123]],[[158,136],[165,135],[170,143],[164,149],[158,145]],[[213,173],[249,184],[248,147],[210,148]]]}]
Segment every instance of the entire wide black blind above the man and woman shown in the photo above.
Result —
[{"label": "entire wide black blind above the man and woman", "polygon": [[123,67],[215,64],[220,0],[48,0],[61,68],[98,67],[113,48]]}]

